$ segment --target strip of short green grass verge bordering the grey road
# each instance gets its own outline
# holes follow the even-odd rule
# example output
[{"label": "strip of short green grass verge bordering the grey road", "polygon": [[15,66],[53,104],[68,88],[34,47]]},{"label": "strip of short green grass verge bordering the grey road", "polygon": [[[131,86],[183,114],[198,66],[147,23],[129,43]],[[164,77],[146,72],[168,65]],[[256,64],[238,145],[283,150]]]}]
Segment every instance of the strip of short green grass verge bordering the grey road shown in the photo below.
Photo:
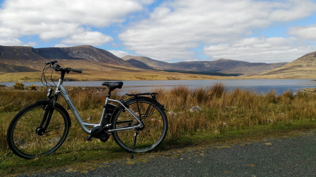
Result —
[{"label": "strip of short green grass verge bordering the grey road", "polygon": [[[296,136],[296,132],[316,129],[316,121],[284,122],[276,125],[266,124],[255,127],[224,130],[222,133],[212,131],[196,132],[179,137],[174,142],[165,142],[157,152],[136,154],[137,161],[146,161],[146,156],[170,154],[179,149],[198,147],[230,147],[233,144],[261,141],[271,137]],[[84,138],[84,137],[82,137]],[[9,153],[0,157],[0,174],[32,174],[62,169],[63,171],[86,171],[100,167],[109,161],[125,160],[129,162],[130,153],[119,148],[113,140],[101,143],[98,140],[82,142],[77,147],[67,147],[68,140],[56,152],[38,159],[25,160]],[[181,150],[180,150],[181,151]],[[130,162],[132,163],[132,162]]]}]

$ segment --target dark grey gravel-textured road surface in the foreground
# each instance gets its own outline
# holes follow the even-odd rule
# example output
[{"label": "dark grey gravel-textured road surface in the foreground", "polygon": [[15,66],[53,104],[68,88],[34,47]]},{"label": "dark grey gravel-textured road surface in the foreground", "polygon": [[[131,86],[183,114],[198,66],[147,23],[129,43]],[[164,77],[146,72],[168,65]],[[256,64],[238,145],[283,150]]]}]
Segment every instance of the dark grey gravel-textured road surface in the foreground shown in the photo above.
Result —
[{"label": "dark grey gravel-textured road surface in the foreground", "polygon": [[[147,154],[147,157],[99,164],[89,171],[59,170],[29,175],[51,176],[316,176],[316,132],[220,147],[196,148],[185,152]],[[162,152],[163,153],[163,152]],[[26,176],[26,175],[22,175]]]}]

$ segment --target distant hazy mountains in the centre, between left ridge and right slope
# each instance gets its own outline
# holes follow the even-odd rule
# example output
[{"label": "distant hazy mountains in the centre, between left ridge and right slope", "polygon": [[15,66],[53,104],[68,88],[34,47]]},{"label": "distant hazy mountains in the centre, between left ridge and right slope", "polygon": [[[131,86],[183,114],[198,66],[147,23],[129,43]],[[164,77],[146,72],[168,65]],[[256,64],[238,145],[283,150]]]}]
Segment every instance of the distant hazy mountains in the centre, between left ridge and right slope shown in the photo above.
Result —
[{"label": "distant hazy mountains in the centre, between left ridge and right slope", "polygon": [[[127,55],[122,57],[123,60],[128,61],[131,65],[139,68],[150,67],[157,70],[185,70],[185,71],[210,71],[221,73],[242,73],[242,74],[256,74],[271,69],[279,68],[287,64],[283,63],[250,63],[246,61],[219,59],[215,61],[187,61],[178,63],[167,63],[163,61],[154,60],[148,57]],[[132,61],[133,62],[132,62]],[[138,60],[142,63],[136,63]]]}]

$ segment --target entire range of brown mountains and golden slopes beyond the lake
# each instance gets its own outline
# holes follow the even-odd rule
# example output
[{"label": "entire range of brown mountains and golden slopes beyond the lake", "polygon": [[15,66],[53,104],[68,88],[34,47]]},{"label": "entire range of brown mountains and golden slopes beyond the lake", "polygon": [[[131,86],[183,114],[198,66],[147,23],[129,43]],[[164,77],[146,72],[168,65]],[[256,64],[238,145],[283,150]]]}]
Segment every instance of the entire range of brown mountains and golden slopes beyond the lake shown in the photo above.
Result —
[{"label": "entire range of brown mountains and golden slopes beyond the lake", "polygon": [[[167,63],[141,56],[127,55],[119,58],[104,49],[95,48],[93,46],[33,48],[0,45],[0,74],[8,72],[18,74],[19,72],[42,71],[43,63],[47,62],[47,60],[62,60],[68,67],[71,66],[77,69],[91,71],[91,75],[96,71],[102,74],[106,71],[117,73],[124,71],[124,74],[130,72],[130,75],[139,75],[137,78],[140,79],[143,79],[140,72],[155,73],[148,74],[147,78],[150,79],[156,79],[155,76],[158,78],[158,76],[161,75],[163,75],[163,77],[159,77],[160,79],[178,79],[186,78],[187,76],[192,76],[192,78],[210,78],[205,75],[213,74],[216,76],[246,75],[234,78],[316,77],[316,52],[306,54],[290,63],[251,63],[230,59]],[[183,77],[184,75],[181,75],[181,77],[173,77],[176,75],[175,73],[190,73],[195,74],[195,76],[187,75]],[[196,76],[196,74],[201,76]],[[124,77],[120,76],[117,78],[124,79]],[[133,77],[129,78],[132,79]]]}]

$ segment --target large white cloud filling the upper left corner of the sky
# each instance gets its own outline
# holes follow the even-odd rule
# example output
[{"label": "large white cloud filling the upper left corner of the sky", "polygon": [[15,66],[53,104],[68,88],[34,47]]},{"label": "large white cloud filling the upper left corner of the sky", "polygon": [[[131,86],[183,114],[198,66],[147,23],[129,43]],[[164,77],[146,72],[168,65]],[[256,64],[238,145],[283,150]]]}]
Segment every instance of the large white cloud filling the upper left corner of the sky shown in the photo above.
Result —
[{"label": "large white cloud filling the upper left corner of the sky", "polygon": [[[108,27],[151,1],[6,0],[0,9],[1,37],[39,35],[41,40],[68,37],[87,26]],[[82,29],[84,28],[84,29]]]}]

